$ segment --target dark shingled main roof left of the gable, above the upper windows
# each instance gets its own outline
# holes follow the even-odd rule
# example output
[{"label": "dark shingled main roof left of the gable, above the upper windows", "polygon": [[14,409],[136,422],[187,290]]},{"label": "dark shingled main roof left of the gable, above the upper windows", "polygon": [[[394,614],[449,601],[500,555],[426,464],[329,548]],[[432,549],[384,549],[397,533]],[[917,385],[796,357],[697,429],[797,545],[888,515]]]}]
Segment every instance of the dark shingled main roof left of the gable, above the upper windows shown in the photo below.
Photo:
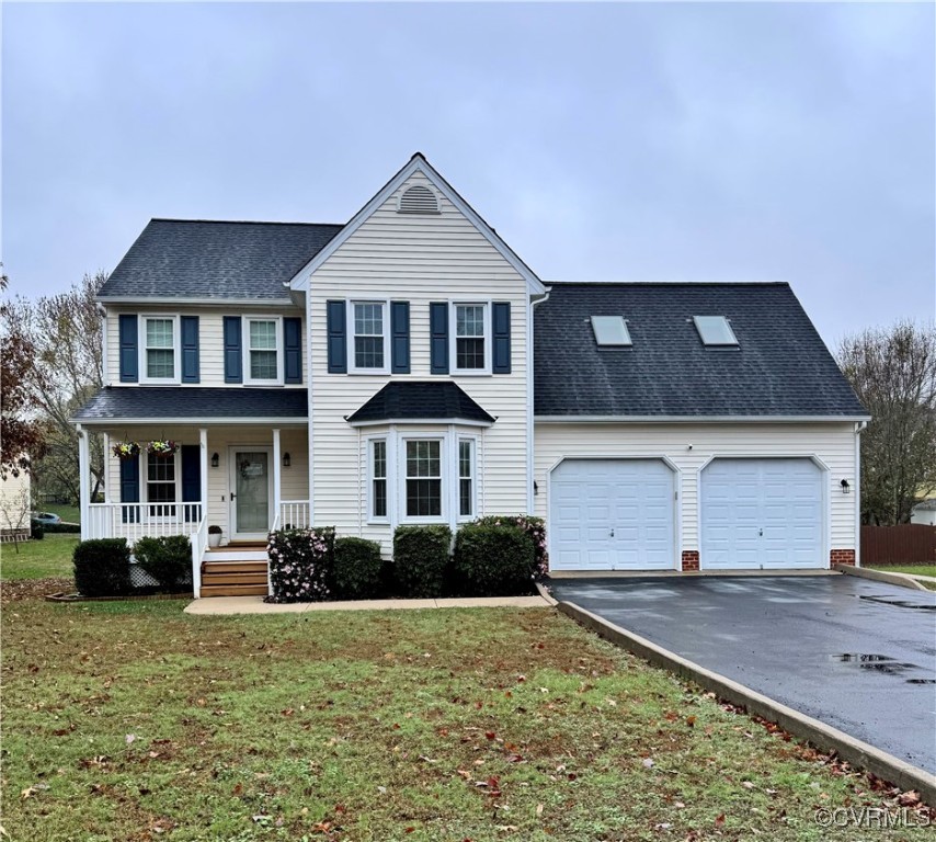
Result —
[{"label": "dark shingled main roof left of the gable, above the upper windows", "polygon": [[288,301],[283,284],[343,227],[151,219],[99,295]]}]

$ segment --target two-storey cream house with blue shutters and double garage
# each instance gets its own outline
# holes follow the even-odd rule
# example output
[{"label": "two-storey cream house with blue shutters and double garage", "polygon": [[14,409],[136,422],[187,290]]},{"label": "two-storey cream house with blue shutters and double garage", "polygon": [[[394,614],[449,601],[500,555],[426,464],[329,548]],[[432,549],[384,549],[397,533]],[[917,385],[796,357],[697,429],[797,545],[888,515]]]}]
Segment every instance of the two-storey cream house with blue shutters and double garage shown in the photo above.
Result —
[{"label": "two-storey cream house with blue shutters and double garage", "polygon": [[532,512],[553,570],[855,561],[867,414],[786,284],[547,286],[421,155],[343,226],[153,219],[100,301],[85,468],[88,431],[181,446],[109,454],[84,537],[191,533],[196,593],[208,524],[389,554]]}]

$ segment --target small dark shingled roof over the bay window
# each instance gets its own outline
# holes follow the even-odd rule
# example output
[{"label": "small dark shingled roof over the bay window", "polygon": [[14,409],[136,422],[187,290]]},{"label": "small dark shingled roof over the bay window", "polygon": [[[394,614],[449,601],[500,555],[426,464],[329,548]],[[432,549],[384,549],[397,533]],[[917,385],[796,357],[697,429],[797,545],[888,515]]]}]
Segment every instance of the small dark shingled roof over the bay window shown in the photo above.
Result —
[{"label": "small dark shingled roof over the bay window", "polygon": [[494,419],[452,380],[403,380],[388,383],[347,422],[444,419],[480,421]]}]

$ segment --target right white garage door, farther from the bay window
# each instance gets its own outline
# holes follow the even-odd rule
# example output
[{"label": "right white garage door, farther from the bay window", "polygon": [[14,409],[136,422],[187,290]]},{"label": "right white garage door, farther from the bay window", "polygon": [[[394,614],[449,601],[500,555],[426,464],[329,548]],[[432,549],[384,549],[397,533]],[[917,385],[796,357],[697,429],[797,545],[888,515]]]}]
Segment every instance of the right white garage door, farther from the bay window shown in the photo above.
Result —
[{"label": "right white garage door, farther from the bay window", "polygon": [[703,570],[826,567],[810,459],[715,459],[701,474]]}]

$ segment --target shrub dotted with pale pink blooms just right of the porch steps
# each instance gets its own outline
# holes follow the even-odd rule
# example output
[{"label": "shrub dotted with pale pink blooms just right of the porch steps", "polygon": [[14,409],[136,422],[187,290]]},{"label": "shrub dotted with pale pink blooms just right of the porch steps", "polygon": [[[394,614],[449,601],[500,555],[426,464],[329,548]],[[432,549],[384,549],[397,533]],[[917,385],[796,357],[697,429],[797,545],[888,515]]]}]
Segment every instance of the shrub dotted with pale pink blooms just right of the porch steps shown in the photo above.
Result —
[{"label": "shrub dotted with pale pink blooms just right of the porch steps", "polygon": [[273,584],[266,602],[322,602],[331,596],[334,526],[271,532],[266,551]]}]

